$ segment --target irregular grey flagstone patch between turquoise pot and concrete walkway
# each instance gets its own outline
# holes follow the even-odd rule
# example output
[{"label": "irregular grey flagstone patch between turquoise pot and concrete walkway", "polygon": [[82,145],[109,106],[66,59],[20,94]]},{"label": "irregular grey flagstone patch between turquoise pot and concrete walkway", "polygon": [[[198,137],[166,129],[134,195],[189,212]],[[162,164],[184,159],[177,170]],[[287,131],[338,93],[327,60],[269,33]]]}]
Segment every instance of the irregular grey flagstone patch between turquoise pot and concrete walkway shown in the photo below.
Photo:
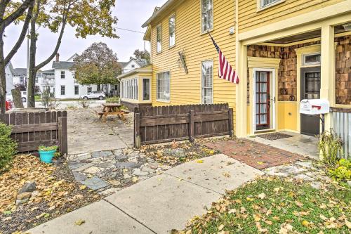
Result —
[{"label": "irregular grey flagstone patch between turquoise pot and concrete walkway", "polygon": [[102,195],[110,195],[170,168],[130,148],[69,155],[67,160],[74,178]]}]

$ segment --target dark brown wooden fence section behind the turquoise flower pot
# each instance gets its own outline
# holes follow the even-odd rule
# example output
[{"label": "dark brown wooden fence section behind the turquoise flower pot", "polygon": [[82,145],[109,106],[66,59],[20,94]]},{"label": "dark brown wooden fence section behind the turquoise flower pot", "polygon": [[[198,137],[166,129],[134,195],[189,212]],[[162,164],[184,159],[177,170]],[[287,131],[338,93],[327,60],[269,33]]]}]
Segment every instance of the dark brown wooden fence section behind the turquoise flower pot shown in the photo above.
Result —
[{"label": "dark brown wooden fence section behind the turquoise flower pot", "polygon": [[0,115],[0,121],[12,126],[11,138],[18,152],[34,152],[39,145],[58,145],[67,154],[67,112],[12,112]]}]

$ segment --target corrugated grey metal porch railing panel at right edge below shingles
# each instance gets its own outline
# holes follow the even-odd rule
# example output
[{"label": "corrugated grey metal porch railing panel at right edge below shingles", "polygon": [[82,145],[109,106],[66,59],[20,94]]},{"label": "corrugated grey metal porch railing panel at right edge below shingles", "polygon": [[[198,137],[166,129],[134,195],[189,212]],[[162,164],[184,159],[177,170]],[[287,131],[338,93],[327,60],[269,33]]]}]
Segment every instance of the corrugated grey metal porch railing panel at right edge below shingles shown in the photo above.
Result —
[{"label": "corrugated grey metal porch railing panel at right edge below shingles", "polygon": [[331,108],[333,129],[343,139],[343,155],[351,159],[351,108]]}]

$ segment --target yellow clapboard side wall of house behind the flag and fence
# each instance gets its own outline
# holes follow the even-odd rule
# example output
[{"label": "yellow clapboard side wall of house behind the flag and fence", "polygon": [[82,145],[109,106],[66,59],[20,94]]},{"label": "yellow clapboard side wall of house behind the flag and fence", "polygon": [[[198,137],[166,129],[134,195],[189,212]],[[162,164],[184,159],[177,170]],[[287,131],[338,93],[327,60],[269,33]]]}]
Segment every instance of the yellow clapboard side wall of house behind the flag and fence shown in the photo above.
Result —
[{"label": "yellow clapboard side wall of house behind the flag and fence", "polygon": [[[235,65],[235,36],[229,34],[235,25],[235,1],[213,0],[213,31],[218,46]],[[168,46],[168,17],[176,13],[176,46]],[[152,25],[152,105],[182,105],[201,102],[201,61],[213,60],[213,101],[235,105],[235,84],[218,78],[218,53],[208,34],[201,34],[200,0],[184,1],[161,20],[162,52],[156,51],[156,26]],[[183,51],[188,74],[178,63],[178,52]],[[156,75],[171,74],[171,100],[156,100]],[[234,115],[235,117],[235,115]],[[235,121],[234,121],[235,122]]]}]

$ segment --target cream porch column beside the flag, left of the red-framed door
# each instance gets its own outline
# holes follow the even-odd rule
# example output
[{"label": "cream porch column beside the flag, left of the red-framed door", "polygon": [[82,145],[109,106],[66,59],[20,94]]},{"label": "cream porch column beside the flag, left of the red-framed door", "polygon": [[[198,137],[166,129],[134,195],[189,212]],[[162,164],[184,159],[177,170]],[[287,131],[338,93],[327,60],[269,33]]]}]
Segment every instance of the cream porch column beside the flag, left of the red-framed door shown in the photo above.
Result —
[{"label": "cream porch column beside the flag, left of the red-framed door", "polygon": [[235,135],[245,137],[247,135],[247,46],[241,41],[237,43],[237,72],[239,72],[239,84],[236,89]]}]

